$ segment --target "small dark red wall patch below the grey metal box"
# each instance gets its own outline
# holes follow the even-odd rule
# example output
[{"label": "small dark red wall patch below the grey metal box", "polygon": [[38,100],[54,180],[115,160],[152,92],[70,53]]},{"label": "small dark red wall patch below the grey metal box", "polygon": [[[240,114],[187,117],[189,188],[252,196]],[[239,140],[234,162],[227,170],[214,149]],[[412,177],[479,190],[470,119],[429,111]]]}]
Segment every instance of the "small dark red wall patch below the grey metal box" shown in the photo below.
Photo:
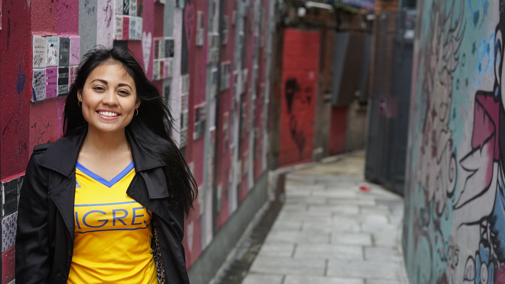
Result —
[{"label": "small dark red wall patch below the grey metal box", "polygon": [[337,155],[345,150],[347,108],[347,106],[331,108],[330,141],[328,145],[330,155]]}]

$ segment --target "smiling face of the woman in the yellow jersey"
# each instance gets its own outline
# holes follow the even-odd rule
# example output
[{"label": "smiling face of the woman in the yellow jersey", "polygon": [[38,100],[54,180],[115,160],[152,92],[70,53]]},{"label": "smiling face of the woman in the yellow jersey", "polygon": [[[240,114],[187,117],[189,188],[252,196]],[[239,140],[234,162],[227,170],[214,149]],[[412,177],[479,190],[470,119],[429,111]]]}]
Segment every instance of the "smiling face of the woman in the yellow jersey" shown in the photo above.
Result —
[{"label": "smiling face of the woman in the yellow jersey", "polygon": [[133,78],[116,62],[100,64],[91,71],[77,98],[90,130],[103,132],[122,131],[140,106]]}]

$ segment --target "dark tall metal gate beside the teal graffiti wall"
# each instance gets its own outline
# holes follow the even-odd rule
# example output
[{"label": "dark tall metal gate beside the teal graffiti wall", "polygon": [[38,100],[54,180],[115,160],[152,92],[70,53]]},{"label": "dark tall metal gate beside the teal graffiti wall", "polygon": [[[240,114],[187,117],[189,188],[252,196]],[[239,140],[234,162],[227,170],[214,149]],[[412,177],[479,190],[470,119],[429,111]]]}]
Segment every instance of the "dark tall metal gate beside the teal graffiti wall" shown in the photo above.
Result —
[{"label": "dark tall metal gate beside the teal graffiti wall", "polygon": [[365,177],[403,195],[415,10],[377,15]]}]

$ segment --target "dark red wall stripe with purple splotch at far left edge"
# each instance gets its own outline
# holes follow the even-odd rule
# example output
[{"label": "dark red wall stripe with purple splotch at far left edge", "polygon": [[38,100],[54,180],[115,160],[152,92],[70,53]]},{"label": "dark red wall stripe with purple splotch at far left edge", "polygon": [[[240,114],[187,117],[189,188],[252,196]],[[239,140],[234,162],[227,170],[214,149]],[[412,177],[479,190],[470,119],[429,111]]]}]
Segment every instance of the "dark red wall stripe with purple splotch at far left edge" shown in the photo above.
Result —
[{"label": "dark red wall stripe with purple splotch at far left edge", "polygon": [[2,1],[2,5],[0,174],[3,180],[12,175],[21,175],[29,158],[27,114],[30,112],[32,40],[27,2]]}]

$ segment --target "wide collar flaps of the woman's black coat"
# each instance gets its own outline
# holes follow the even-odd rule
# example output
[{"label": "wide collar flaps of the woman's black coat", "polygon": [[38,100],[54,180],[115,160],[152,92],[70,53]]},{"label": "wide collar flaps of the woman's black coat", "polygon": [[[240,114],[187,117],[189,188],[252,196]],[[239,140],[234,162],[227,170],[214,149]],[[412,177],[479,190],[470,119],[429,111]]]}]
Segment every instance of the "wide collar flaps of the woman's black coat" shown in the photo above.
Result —
[{"label": "wide collar flaps of the woman's black coat", "polygon": [[[62,137],[55,141],[42,155],[38,161],[38,165],[70,177],[74,172],[77,156],[87,132],[88,129],[86,127],[81,133]],[[163,161],[149,156],[145,151],[140,149],[128,130],[125,130],[125,132],[126,138],[130,143],[135,171],[164,166]]]}]

